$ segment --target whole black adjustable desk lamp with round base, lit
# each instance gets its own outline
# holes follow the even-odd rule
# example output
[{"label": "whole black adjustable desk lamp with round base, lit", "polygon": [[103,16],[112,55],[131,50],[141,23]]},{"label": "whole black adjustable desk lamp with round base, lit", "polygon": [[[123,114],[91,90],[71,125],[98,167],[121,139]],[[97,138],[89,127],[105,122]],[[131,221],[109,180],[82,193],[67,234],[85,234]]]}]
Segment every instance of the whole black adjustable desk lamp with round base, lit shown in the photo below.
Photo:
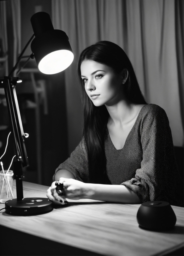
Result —
[{"label": "whole black adjustable desk lamp with round base, lit", "polygon": [[[23,132],[15,87],[22,82],[19,77],[11,77],[22,58],[36,60],[39,70],[44,74],[55,74],[68,68],[73,61],[73,52],[68,37],[64,31],[53,28],[50,16],[45,12],[37,12],[31,17],[33,36],[27,42],[19,55],[18,61],[8,77],[0,79],[0,87],[5,90],[8,114],[10,117],[11,130],[14,136],[16,161],[14,161],[14,177],[16,179],[17,198],[5,202],[5,211],[12,215],[35,215],[53,210],[52,201],[48,198],[29,197],[23,198],[23,171],[22,167],[29,166],[24,139],[29,135]],[[35,38],[34,38],[35,37]],[[34,39],[33,39],[34,38]],[[31,42],[32,41],[32,42]],[[23,56],[27,46],[31,42],[30,56]]]}]

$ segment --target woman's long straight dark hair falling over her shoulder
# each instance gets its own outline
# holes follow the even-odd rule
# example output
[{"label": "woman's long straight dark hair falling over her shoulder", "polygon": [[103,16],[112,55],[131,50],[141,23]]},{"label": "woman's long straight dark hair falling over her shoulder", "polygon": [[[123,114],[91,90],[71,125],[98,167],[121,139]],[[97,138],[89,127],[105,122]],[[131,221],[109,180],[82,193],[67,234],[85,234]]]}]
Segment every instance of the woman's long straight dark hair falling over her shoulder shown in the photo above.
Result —
[{"label": "woman's long straight dark hair falling over her shoulder", "polygon": [[83,60],[94,60],[105,64],[113,68],[117,74],[127,68],[128,79],[124,84],[127,99],[136,104],[146,104],[146,101],[140,91],[132,64],[121,47],[113,42],[100,41],[82,51],[77,64],[77,76],[81,86],[83,137],[88,152],[88,182],[103,183],[106,171],[103,131],[109,113],[105,105],[94,106],[86,94],[84,82],[81,78],[81,63]]}]

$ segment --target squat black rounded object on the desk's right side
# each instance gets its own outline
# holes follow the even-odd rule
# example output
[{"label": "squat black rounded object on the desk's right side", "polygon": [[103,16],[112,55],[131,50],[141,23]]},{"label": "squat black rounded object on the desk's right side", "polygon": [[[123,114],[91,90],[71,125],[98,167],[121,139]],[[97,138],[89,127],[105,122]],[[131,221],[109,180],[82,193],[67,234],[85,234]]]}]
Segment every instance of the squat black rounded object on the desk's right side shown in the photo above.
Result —
[{"label": "squat black rounded object on the desk's right side", "polygon": [[140,205],[137,222],[144,229],[167,230],[176,224],[176,215],[168,202],[149,201]]}]

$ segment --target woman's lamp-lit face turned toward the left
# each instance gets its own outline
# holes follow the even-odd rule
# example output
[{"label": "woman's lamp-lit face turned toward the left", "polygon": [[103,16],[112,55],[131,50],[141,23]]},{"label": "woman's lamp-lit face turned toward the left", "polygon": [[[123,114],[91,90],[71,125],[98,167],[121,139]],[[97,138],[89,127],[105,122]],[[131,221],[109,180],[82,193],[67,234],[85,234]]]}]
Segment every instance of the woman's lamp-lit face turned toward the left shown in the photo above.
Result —
[{"label": "woman's lamp-lit face turned toward the left", "polygon": [[114,105],[122,98],[122,75],[112,68],[93,60],[83,60],[81,77],[86,93],[96,107]]}]

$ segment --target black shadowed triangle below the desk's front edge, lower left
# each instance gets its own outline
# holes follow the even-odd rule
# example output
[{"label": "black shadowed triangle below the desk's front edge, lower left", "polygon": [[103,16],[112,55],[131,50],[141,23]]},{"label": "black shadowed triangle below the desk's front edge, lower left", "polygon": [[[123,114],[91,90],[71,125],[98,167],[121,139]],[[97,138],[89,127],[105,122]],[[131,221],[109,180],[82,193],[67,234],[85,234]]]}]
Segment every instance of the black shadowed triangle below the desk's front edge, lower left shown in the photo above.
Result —
[{"label": "black shadowed triangle below the desk's front edge, lower left", "polygon": [[[54,242],[0,225],[1,253],[4,256],[94,256],[102,255],[85,249]],[[8,239],[7,239],[8,238]]]}]

